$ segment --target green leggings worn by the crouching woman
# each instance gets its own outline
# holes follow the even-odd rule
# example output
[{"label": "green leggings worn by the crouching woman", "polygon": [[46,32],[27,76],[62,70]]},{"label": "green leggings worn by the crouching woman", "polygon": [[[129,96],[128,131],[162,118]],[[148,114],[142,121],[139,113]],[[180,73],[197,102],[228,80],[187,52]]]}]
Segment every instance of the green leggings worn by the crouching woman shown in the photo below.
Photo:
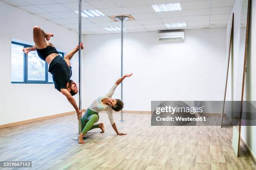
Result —
[{"label": "green leggings worn by the crouching woman", "polygon": [[94,128],[99,128],[99,124],[94,124],[99,120],[99,115],[97,112],[94,112],[90,109],[87,109],[87,112],[83,115],[81,119],[81,129],[82,133],[85,134],[89,130]]}]

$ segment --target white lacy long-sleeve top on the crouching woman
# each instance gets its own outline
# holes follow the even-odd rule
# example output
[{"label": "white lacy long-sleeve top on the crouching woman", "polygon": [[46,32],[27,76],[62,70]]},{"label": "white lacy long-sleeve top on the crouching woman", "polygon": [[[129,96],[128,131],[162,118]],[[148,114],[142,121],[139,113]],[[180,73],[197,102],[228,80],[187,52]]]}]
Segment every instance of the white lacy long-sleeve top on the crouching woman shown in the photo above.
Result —
[{"label": "white lacy long-sleeve top on the crouching woman", "polygon": [[106,95],[98,97],[96,100],[93,100],[92,104],[88,107],[90,110],[95,111],[97,113],[101,111],[106,111],[108,113],[108,119],[111,125],[115,123],[113,118],[113,110],[110,105],[104,105],[102,103],[102,99],[111,98],[117,86],[118,85],[114,84]]}]

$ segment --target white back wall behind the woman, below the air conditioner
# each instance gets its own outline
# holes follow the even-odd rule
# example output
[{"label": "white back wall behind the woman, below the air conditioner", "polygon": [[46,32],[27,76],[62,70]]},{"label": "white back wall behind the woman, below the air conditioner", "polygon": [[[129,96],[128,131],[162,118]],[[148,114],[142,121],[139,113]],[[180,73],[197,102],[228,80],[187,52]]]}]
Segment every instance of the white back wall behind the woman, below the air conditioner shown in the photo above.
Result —
[{"label": "white back wall behind the woman, below the air conditioner", "polygon": [[[186,30],[185,41],[159,42],[157,32],[124,34],[124,110],[151,100],[223,100],[226,30]],[[120,77],[120,34],[85,35],[83,107]],[[115,96],[120,97],[120,87]]]}]

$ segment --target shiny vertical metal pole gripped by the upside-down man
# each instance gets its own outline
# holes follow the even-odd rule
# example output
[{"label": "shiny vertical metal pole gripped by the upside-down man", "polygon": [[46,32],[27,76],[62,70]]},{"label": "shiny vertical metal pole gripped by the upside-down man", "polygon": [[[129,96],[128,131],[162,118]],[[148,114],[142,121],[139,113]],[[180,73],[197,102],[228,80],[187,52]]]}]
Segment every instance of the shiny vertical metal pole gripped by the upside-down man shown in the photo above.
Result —
[{"label": "shiny vertical metal pole gripped by the upside-down man", "polygon": [[[81,39],[82,39],[82,36],[81,36],[81,28],[82,28],[82,25],[81,25],[81,13],[82,13],[82,0],[79,0],[79,14],[78,14],[78,21],[79,21],[79,45],[78,45],[78,60],[79,60],[79,110],[82,111],[82,65],[81,65],[81,47],[80,47],[80,43],[81,43]],[[79,128],[78,128],[78,134],[81,133],[81,117],[79,118]]]}]

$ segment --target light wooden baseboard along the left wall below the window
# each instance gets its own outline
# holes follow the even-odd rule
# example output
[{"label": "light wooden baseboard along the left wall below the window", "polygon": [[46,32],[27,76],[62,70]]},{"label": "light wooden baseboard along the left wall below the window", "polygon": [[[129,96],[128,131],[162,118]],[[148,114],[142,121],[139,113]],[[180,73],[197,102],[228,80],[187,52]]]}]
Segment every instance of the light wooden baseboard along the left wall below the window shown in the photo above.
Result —
[{"label": "light wooden baseboard along the left wall below the window", "polygon": [[[85,112],[86,109],[82,109],[82,111]],[[71,114],[74,114],[74,113],[75,113],[75,111],[64,112],[64,113],[60,113],[60,114],[56,114],[56,115],[49,115],[49,116],[37,117],[37,118],[29,119],[29,120],[23,120],[23,121],[19,121],[19,122],[7,123],[7,124],[4,124],[4,125],[0,125],[0,129],[1,128],[9,128],[9,127],[12,127],[12,126],[23,125],[23,124],[31,123],[31,122],[37,122],[37,121],[40,121],[40,120],[51,119],[51,118],[54,118],[54,117],[61,117],[61,116],[65,116],[65,115],[71,115]]]}]

